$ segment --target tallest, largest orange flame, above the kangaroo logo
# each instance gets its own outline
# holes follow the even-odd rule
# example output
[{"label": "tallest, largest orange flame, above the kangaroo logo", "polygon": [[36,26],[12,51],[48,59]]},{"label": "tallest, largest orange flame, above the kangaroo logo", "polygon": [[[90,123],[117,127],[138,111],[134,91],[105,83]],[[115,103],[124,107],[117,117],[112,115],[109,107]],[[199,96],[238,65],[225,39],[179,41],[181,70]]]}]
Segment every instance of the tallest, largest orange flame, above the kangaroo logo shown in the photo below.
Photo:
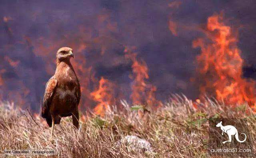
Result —
[{"label": "tallest, largest orange flame, above the kangaroo logo", "polygon": [[232,106],[244,102],[254,106],[255,82],[242,78],[243,60],[237,38],[222,21],[222,15],[210,16],[205,32],[208,39],[198,38],[192,44],[194,48],[201,48],[196,58],[199,76],[204,78],[200,81],[201,96],[214,93],[217,100]]}]

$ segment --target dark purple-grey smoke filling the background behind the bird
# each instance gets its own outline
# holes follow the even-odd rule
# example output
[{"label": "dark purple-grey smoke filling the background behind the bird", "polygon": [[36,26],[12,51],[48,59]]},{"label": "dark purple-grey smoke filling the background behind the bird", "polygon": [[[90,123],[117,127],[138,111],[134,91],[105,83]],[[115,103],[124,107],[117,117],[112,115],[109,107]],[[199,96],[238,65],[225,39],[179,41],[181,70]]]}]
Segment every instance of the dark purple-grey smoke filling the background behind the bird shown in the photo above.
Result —
[{"label": "dark purple-grey smoke filling the background behind the bird", "polygon": [[[172,93],[197,98],[192,41],[214,12],[223,11],[239,28],[238,47],[254,64],[256,6],[253,1],[79,0],[0,2],[0,99],[39,110],[44,86],[55,71],[58,48],[70,46],[85,89],[97,90],[101,77],[129,99],[132,62],[125,46],[136,47],[148,66],[148,82],[165,101]],[[170,26],[171,23],[171,26]],[[172,32],[169,28],[173,28]],[[86,92],[89,94],[89,92]],[[88,95],[89,97],[90,95]],[[84,98],[86,98],[84,96]],[[96,105],[96,104],[95,104]],[[90,108],[93,105],[86,105]]]}]

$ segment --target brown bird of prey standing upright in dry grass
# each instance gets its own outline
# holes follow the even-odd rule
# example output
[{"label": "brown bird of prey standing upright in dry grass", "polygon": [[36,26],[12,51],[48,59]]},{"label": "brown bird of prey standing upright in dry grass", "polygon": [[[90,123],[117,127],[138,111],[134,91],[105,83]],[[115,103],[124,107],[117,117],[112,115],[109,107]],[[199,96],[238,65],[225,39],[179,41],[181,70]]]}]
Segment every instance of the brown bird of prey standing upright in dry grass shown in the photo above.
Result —
[{"label": "brown bird of prey standing upright in dry grass", "polygon": [[70,63],[71,57],[74,58],[71,48],[63,47],[57,51],[55,74],[46,83],[41,115],[52,127],[51,137],[54,124],[60,124],[62,117],[72,116],[73,125],[76,128],[79,125],[78,104],[81,91]]}]

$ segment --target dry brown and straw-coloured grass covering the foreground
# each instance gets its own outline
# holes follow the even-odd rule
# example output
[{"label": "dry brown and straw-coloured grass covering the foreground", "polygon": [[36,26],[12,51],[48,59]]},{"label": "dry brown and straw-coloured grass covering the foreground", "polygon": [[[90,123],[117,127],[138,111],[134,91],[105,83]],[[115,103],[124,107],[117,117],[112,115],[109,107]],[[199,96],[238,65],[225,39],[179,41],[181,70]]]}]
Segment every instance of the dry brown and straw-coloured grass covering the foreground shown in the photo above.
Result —
[{"label": "dry brown and straw-coloured grass covering the foreground", "polygon": [[[195,109],[195,104],[197,109]],[[14,104],[0,105],[0,149],[55,149],[60,157],[198,157],[207,156],[208,119],[247,118],[255,124],[256,116],[249,106],[230,108],[207,99],[202,103],[186,97],[173,100],[157,110],[139,117],[142,106],[129,106],[122,101],[123,110],[106,111],[104,117],[82,116],[79,130],[72,119],[62,119],[56,125],[52,141],[50,128],[40,116]],[[143,108],[142,108],[143,110]],[[252,141],[256,140],[256,126],[250,126]],[[138,136],[150,142],[152,151],[136,151],[119,140],[127,135]],[[255,147],[254,147],[255,150]]]}]

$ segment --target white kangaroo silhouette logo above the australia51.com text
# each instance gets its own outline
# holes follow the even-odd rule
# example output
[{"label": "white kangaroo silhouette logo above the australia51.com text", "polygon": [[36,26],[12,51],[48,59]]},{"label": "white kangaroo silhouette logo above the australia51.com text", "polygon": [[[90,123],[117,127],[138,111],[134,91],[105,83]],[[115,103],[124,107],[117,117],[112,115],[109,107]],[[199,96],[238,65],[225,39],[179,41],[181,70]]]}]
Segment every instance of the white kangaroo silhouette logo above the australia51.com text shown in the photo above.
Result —
[{"label": "white kangaroo silhouette logo above the australia51.com text", "polygon": [[[241,133],[241,134],[244,134],[244,135],[245,135],[244,140],[242,140],[242,141],[239,140],[239,138],[238,138],[238,131],[237,131],[237,129],[236,129],[234,126],[231,126],[231,125],[222,126],[222,121],[220,121],[220,123],[218,123],[218,124],[216,125],[216,127],[220,127],[220,129],[222,130],[222,135],[223,135],[223,132],[225,132],[226,134],[228,134],[228,139],[229,139],[229,140],[222,142],[223,144],[225,144],[226,142],[231,142],[232,135],[235,135],[236,140],[237,140],[238,142],[240,142],[240,143],[245,142],[245,140],[246,140],[246,134],[244,134],[244,133]],[[241,134],[240,134],[240,136],[241,136]]]}]

